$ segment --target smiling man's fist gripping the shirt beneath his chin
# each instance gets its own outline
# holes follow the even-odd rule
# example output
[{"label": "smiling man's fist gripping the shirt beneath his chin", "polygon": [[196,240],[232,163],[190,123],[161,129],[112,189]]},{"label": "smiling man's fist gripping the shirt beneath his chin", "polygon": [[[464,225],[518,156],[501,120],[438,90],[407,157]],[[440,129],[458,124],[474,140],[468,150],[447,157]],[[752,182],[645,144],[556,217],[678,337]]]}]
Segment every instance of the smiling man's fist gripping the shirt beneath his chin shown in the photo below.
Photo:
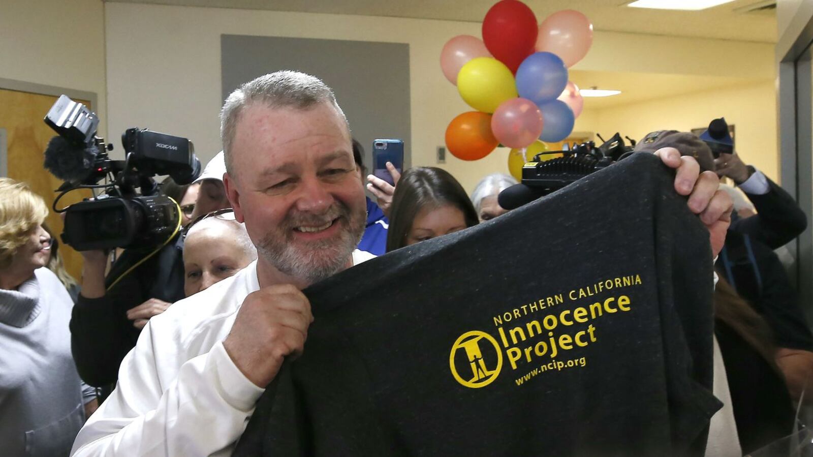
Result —
[{"label": "smiling man's fist gripping the shirt beneath his chin", "polygon": [[286,355],[302,353],[311,322],[311,302],[299,289],[272,285],[246,297],[223,346],[237,368],[264,389]]}]

